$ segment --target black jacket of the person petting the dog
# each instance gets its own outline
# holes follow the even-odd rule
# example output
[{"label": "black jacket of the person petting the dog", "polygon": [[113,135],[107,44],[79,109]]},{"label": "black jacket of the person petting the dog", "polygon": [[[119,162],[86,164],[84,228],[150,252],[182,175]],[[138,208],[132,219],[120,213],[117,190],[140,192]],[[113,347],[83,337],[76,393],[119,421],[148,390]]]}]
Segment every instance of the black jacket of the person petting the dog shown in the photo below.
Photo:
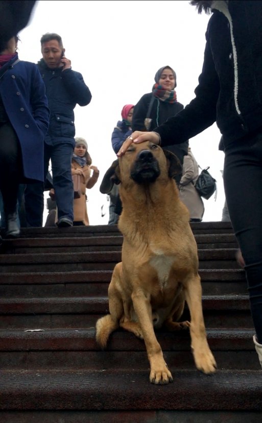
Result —
[{"label": "black jacket of the person petting the dog", "polygon": [[211,3],[196,98],[155,129],[162,146],[171,136],[179,143],[215,121],[225,146],[262,126],[262,1]]}]

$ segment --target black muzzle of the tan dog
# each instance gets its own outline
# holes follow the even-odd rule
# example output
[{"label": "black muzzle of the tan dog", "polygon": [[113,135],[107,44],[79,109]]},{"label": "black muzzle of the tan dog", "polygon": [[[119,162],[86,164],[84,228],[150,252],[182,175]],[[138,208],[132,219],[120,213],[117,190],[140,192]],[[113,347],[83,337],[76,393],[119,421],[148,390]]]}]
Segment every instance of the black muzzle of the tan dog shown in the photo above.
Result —
[{"label": "black muzzle of the tan dog", "polygon": [[158,161],[150,150],[142,150],[131,168],[130,176],[138,184],[155,182],[160,175]]}]

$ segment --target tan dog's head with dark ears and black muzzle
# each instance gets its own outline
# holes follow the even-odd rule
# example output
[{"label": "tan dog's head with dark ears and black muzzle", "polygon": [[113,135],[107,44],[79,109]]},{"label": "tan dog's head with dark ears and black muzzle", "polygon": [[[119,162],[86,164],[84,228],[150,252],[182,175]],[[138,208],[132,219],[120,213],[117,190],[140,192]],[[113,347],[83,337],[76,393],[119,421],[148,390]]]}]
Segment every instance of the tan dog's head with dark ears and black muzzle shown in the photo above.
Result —
[{"label": "tan dog's head with dark ears and black muzzle", "polygon": [[178,158],[150,141],[131,144],[124,156],[115,160],[106,171],[100,191],[107,194],[113,184],[133,180],[137,184],[154,183],[157,178],[173,178],[181,173]]}]

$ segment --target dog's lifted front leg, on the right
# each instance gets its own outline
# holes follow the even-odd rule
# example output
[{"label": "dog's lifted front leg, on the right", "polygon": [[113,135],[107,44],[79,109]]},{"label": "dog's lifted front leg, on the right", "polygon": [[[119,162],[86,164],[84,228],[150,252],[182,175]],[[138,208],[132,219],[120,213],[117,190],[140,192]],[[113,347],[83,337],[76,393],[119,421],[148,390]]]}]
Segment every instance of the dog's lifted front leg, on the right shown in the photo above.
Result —
[{"label": "dog's lifted front leg, on the right", "polygon": [[191,347],[196,366],[204,373],[212,373],[216,370],[216,361],[206,339],[202,310],[202,288],[199,276],[193,276],[188,280],[185,289],[185,300],[191,316]]}]

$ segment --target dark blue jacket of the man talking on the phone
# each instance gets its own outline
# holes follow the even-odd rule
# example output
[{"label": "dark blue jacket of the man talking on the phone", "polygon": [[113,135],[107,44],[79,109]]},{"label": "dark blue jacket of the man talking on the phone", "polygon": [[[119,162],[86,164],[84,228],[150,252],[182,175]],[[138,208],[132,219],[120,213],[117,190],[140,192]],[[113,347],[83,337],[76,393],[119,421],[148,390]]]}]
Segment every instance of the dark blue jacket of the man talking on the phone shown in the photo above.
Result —
[{"label": "dark blue jacket of the man talking on the phone", "polygon": [[86,106],[91,93],[81,73],[72,69],[51,69],[41,59],[37,66],[43,78],[48,106],[51,111],[47,144],[60,141],[72,142],[75,137],[74,109],[77,104]]}]

